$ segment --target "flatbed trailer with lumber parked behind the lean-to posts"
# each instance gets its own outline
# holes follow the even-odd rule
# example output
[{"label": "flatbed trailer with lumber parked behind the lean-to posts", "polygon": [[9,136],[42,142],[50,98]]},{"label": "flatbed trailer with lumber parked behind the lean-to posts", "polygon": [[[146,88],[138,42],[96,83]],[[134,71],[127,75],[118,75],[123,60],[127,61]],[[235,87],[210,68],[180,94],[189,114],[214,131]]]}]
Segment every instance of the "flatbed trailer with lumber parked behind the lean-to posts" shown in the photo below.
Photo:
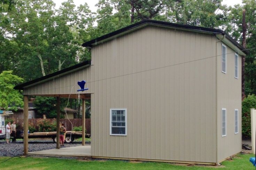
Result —
[{"label": "flatbed trailer with lumber parked behind the lean-to posts", "polygon": [[[65,143],[70,144],[72,143],[76,138],[82,137],[82,131],[66,131],[65,133]],[[53,142],[56,143],[57,141],[57,132],[34,132],[34,133],[28,133],[28,138],[52,138]],[[90,134],[85,134],[86,137],[90,137]],[[24,137],[24,134],[22,133],[20,135],[21,138]]]}]

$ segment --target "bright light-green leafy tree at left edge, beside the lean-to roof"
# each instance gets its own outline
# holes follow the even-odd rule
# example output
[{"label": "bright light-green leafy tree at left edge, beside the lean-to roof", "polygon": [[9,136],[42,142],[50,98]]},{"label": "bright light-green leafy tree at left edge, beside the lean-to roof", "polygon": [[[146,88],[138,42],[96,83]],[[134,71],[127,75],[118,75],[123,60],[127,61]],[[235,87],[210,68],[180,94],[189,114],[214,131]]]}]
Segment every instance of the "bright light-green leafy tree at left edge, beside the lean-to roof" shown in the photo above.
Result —
[{"label": "bright light-green leafy tree at left edge, beside the lean-to roof", "polygon": [[3,71],[0,74],[0,107],[5,110],[15,110],[23,107],[22,94],[14,90],[14,86],[23,82],[23,79],[13,75],[13,71]]}]

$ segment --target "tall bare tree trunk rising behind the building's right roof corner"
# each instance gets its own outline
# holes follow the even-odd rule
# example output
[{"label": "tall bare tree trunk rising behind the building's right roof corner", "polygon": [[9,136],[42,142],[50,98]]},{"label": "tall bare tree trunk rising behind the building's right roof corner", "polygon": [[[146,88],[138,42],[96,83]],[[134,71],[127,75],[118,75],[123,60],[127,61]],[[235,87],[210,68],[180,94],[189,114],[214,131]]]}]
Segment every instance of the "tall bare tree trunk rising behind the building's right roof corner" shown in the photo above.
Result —
[{"label": "tall bare tree trunk rising behind the building's right roof corner", "polygon": [[[242,20],[242,46],[246,48],[246,23],[245,23],[245,9],[243,9]],[[242,56],[242,100],[245,99],[245,56]]]}]

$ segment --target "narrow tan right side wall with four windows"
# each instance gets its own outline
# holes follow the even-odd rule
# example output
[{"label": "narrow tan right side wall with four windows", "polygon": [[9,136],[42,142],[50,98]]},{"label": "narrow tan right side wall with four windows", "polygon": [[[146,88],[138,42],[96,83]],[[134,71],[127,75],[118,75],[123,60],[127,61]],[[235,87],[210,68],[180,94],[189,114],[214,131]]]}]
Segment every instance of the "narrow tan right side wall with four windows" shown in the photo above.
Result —
[{"label": "narrow tan right side wall with four windows", "polygon": [[[242,150],[241,130],[241,56],[238,59],[238,79],[235,78],[234,50],[227,46],[226,74],[222,73],[222,42],[217,44],[217,139],[218,161]],[[226,108],[226,136],[222,137],[222,108]],[[235,134],[235,109],[239,113],[239,133]]]}]

